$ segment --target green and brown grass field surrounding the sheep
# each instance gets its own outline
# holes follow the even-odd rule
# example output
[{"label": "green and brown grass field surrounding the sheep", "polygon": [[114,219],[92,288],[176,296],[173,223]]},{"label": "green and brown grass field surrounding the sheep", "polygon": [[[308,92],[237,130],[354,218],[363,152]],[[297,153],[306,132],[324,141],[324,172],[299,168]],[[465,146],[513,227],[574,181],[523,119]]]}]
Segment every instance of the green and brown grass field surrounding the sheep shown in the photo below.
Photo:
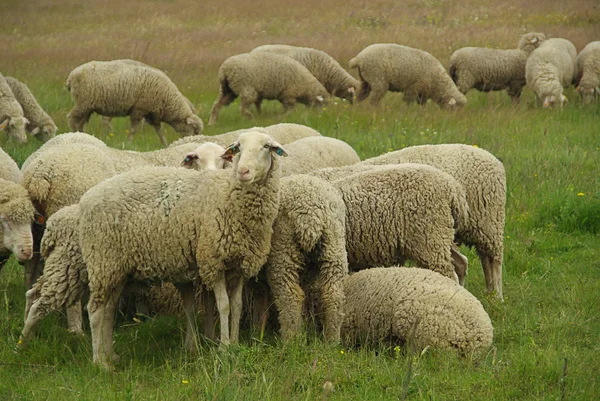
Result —
[{"label": "green and brown grass field surrounding the sheep", "polygon": [[[259,5],[260,3],[260,5]],[[4,0],[0,72],[27,83],[60,132],[72,100],[67,74],[92,59],[135,58],[165,70],[206,122],[228,56],[266,43],[327,51],[347,66],[363,47],[396,42],[431,52],[447,65],[457,48],[515,47],[522,33],[570,39],[581,50],[600,39],[597,1],[390,0]],[[470,92],[458,112],[406,106],[388,94],[380,108],[338,102],[322,112],[299,106],[285,118],[267,102],[243,120],[224,108],[216,134],[250,125],[297,122],[350,143],[363,158],[425,143],[466,143],[502,159],[507,172],[504,293],[485,293],[481,265],[470,260],[466,287],[494,324],[489,352],[461,358],[427,350],[282,345],[276,333],[246,331],[219,352],[202,343],[182,350],[184,322],[157,317],[116,329],[121,363],[106,373],[91,363],[89,335],[66,330],[54,314],[36,340],[15,352],[23,324],[22,268],[0,274],[0,400],[597,400],[600,399],[600,109],[583,107],[573,89],[563,110],[542,110],[525,90],[513,107],[505,93]],[[272,103],[272,102],[271,102]],[[126,143],[126,119],[108,132],[93,117],[88,132],[115,147],[159,147],[151,127]],[[167,128],[167,138],[177,134]],[[22,163],[36,140],[0,144]],[[330,381],[333,391],[323,384]]]}]

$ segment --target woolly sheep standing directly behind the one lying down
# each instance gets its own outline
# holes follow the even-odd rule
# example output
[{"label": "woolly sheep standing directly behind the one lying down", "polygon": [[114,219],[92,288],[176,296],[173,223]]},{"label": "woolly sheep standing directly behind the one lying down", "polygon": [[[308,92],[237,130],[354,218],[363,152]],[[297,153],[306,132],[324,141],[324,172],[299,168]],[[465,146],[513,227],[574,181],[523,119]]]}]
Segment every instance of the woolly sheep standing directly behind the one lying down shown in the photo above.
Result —
[{"label": "woolly sheep standing directly behind the one lying down", "polygon": [[311,175],[329,180],[344,199],[350,271],[411,258],[459,281],[453,241],[469,210],[452,176],[413,163],[321,169]]}]

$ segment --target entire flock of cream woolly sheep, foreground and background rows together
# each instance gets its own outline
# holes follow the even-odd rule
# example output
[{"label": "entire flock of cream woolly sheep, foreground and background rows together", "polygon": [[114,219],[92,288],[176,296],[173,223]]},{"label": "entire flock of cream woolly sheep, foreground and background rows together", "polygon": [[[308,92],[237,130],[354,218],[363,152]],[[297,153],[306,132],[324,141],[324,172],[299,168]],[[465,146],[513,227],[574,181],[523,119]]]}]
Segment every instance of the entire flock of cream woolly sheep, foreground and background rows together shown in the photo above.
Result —
[{"label": "entire flock of cream woolly sheep, foreground and background rows together", "polygon": [[[263,99],[286,108],[330,95],[376,103],[387,90],[454,107],[473,87],[506,89],[517,101],[527,83],[550,106],[577,79],[588,102],[599,92],[599,55],[592,42],[576,63],[570,42],[530,33],[514,50],[460,49],[448,73],[424,51],[378,44],[350,61],[359,81],[321,51],[261,46],[221,66],[210,123],[238,96],[248,116]],[[214,339],[216,306],[218,339],[228,345],[239,340],[243,309],[261,317],[271,302],[284,341],[314,315],[332,342],[411,341],[462,353],[491,344],[489,316],[462,287],[468,261],[457,246],[475,247],[488,292],[502,299],[506,176],[489,152],[424,145],[361,161],[345,142],[297,124],[204,136],[175,84],[133,60],[86,63],[67,87],[73,131],[93,112],[129,116],[131,134],[145,120],[166,148],[55,136],[27,87],[0,76],[1,127],[21,142],[26,130],[45,141],[21,169],[0,151],[0,268],[11,253],[25,265],[20,347],[53,310],[67,308],[69,329],[83,333],[89,298],[94,362],[110,368],[122,296],[143,300],[144,313],[183,311],[190,351],[199,307]],[[168,145],[161,122],[185,138]],[[394,267],[408,259],[421,269]]]}]

